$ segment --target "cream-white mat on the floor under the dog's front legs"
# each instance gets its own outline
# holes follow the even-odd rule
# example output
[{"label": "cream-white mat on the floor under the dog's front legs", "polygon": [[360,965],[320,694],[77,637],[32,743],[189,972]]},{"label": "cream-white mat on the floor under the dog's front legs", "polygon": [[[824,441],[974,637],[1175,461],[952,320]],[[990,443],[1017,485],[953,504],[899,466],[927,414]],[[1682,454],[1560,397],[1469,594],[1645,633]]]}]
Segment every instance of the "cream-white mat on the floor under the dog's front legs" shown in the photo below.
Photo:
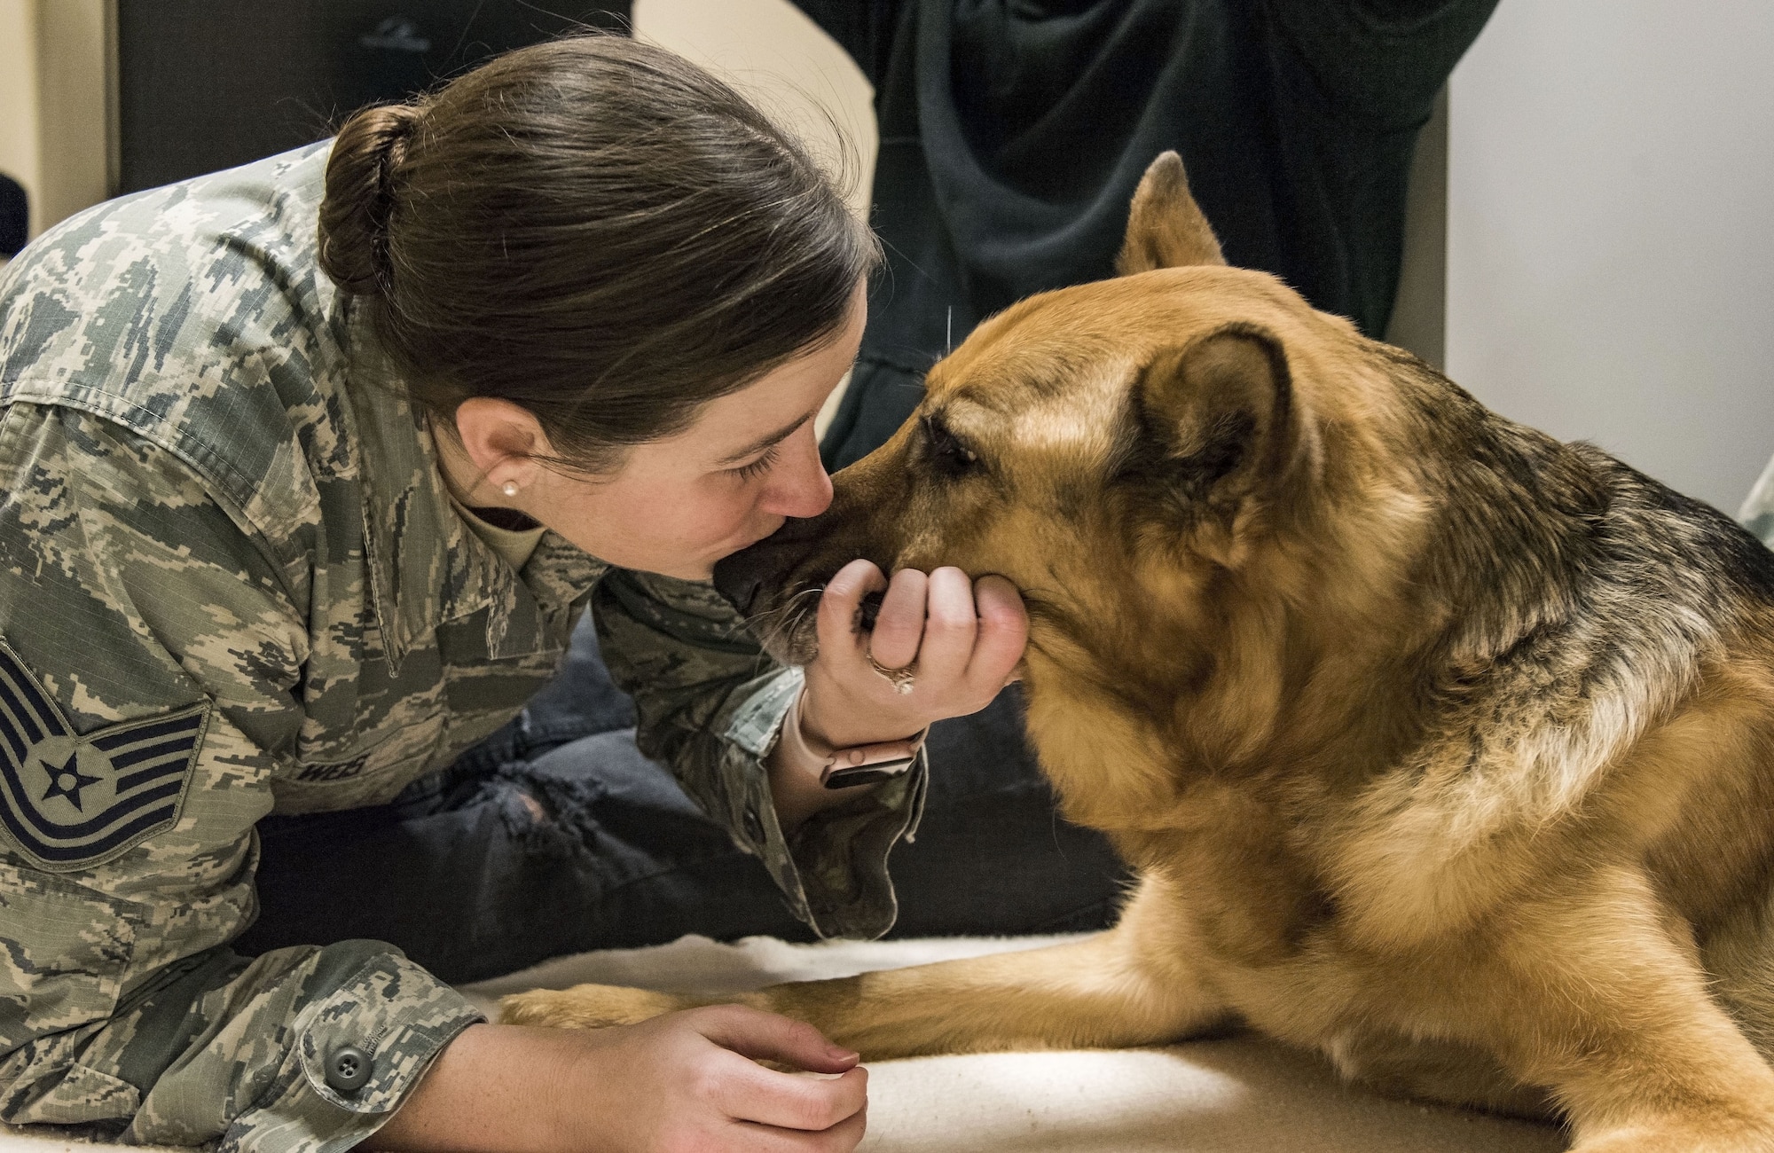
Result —
[{"label": "cream-white mat on the floor under the dog's front legs", "polygon": [[[584,981],[734,992],[873,969],[1031,949],[1064,937],[828,942],[685,937],[585,953],[468,986],[497,997]],[[1550,1126],[1391,1102],[1268,1041],[1123,1052],[974,1054],[869,1066],[866,1153],[1552,1153]]]}]

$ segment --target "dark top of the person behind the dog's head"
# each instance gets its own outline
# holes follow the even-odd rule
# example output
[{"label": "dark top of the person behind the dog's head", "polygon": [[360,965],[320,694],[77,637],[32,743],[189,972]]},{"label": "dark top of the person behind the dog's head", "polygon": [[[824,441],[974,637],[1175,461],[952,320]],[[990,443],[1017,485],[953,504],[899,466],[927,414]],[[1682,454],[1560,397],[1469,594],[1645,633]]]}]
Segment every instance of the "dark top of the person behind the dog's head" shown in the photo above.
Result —
[{"label": "dark top of the person behind the dog's head", "polygon": [[825,438],[860,459],[992,312],[1100,280],[1176,149],[1228,263],[1385,332],[1417,129],[1495,0],[797,0],[875,85],[887,275]]}]

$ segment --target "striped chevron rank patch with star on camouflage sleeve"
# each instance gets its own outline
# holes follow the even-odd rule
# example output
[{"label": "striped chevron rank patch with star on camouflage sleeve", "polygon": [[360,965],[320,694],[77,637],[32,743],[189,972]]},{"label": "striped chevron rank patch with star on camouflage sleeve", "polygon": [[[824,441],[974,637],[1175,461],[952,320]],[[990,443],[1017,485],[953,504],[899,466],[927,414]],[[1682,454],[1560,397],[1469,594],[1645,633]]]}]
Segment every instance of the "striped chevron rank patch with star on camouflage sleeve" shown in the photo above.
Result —
[{"label": "striped chevron rank patch with star on camouflage sleeve", "polygon": [[62,873],[172,828],[208,720],[206,702],[78,736],[0,640],[0,846]]}]

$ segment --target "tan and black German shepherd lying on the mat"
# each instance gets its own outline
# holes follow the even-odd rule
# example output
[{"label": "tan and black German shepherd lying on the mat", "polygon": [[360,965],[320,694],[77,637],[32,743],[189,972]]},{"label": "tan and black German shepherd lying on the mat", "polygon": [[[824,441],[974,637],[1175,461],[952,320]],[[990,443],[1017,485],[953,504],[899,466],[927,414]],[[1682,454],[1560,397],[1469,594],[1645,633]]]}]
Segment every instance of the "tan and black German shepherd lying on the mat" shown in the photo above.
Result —
[{"label": "tan and black German shepherd lying on the mat", "polygon": [[1774,553],[1228,268],[1174,154],[1118,271],[981,325],[718,580],[805,662],[797,594],[853,557],[1008,576],[1041,766],[1137,889],[1073,944],[743,1000],[866,1057],[1236,1022],[1584,1153],[1774,1149]]}]

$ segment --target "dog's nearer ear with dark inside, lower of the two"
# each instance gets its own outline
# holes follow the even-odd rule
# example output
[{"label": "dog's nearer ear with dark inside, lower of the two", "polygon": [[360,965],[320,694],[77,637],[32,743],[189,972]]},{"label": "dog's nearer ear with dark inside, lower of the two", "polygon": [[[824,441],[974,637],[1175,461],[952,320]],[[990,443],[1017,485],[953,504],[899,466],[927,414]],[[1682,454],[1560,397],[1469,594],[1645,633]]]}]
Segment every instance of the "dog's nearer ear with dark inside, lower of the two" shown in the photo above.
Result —
[{"label": "dog's nearer ear with dark inside, lower of the two", "polygon": [[1286,349],[1242,321],[1160,351],[1130,408],[1123,475],[1190,522],[1279,482],[1299,440]]}]

